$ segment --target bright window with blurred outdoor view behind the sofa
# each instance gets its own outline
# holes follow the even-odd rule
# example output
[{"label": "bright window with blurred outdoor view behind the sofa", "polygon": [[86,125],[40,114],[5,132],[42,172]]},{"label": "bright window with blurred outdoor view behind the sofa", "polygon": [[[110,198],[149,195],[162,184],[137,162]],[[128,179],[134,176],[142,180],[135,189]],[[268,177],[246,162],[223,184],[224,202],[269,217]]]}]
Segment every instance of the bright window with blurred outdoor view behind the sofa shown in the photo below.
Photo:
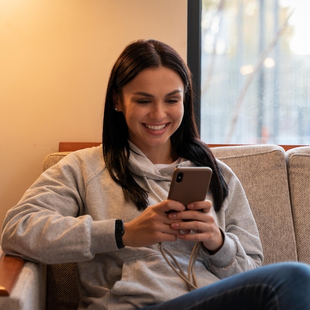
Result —
[{"label": "bright window with blurred outdoor view behind the sofa", "polygon": [[202,140],[310,144],[310,2],[192,1],[200,9]]}]

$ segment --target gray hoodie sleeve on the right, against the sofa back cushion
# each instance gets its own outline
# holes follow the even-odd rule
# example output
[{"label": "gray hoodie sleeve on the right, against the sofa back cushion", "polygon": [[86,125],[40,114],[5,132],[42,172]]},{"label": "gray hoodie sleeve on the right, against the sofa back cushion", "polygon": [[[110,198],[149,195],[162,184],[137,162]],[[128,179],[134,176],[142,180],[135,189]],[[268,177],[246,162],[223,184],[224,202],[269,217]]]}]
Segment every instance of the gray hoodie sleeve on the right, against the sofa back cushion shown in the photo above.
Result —
[{"label": "gray hoodie sleeve on the right, against the sofa back cushion", "polygon": [[263,260],[257,225],[244,189],[231,169],[221,165],[229,188],[228,197],[216,214],[224,243],[214,255],[207,249],[203,251],[207,268],[220,279],[257,268]]}]

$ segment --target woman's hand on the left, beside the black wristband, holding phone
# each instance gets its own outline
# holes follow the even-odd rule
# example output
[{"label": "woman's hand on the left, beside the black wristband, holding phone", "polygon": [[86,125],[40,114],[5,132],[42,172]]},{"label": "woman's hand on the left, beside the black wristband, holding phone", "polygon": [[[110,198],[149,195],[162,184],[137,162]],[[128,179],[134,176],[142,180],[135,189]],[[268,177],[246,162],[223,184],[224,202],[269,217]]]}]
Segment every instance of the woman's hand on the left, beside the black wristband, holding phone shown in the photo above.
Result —
[{"label": "woman's hand on the left, beside the black wristband, holding phone", "polygon": [[169,219],[166,212],[170,210],[184,211],[185,207],[173,200],[147,207],[138,217],[124,223],[125,233],[123,245],[128,247],[148,247],[159,242],[175,242],[179,230],[171,228],[171,224],[182,220]]}]

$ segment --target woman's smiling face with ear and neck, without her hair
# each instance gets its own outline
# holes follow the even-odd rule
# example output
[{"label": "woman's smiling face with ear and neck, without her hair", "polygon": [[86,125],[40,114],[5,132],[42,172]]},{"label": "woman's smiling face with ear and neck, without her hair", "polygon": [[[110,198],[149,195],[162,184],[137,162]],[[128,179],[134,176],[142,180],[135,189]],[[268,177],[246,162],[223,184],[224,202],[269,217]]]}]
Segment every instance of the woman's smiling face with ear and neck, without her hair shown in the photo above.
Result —
[{"label": "woman's smiling face with ear and neck, without her hair", "polygon": [[183,118],[183,97],[178,73],[159,67],[142,70],[114,100],[115,108],[125,116],[129,140],[150,159],[157,158],[153,162],[171,155],[170,137]]}]

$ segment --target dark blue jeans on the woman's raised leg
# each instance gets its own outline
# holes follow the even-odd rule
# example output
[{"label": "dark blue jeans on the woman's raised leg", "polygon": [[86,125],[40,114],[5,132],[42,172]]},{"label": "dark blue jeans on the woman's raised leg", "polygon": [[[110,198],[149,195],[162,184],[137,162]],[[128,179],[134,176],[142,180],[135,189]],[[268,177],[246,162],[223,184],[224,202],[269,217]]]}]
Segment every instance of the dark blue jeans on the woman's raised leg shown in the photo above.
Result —
[{"label": "dark blue jeans on the woman's raised leg", "polygon": [[310,266],[282,262],[243,272],[143,310],[310,310]]}]

